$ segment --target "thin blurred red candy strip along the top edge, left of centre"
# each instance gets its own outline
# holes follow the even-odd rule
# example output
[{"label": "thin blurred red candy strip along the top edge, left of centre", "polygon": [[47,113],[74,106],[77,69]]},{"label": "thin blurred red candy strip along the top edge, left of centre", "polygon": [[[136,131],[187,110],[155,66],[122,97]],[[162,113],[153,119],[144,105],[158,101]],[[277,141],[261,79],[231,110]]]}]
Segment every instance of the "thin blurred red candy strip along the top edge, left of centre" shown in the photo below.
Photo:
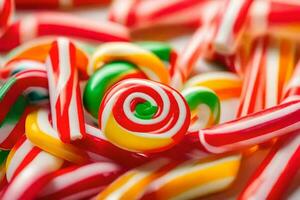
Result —
[{"label": "thin blurred red candy strip along the top edge, left of centre", "polygon": [[92,5],[103,5],[108,3],[108,0],[47,0],[43,1],[42,3],[37,3],[32,0],[15,0],[17,8],[59,8],[59,9],[69,9],[69,8],[76,8],[82,6],[92,6]]}]

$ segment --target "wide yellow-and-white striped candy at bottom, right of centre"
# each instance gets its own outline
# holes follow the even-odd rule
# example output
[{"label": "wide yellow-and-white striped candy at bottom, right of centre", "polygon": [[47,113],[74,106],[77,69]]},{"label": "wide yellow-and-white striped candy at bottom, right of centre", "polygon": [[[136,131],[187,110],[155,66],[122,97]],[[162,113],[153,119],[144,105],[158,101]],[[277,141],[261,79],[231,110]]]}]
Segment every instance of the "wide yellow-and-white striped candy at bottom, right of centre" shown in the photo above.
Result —
[{"label": "wide yellow-and-white striped candy at bottom, right of centre", "polygon": [[151,182],[141,199],[194,199],[222,191],[236,178],[240,158],[186,161]]}]

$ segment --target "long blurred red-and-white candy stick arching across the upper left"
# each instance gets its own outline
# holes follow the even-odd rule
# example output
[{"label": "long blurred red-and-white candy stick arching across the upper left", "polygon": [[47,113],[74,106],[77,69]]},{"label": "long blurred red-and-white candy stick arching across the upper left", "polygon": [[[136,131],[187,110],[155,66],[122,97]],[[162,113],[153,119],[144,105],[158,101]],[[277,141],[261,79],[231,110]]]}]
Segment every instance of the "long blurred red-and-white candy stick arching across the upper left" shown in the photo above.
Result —
[{"label": "long blurred red-and-white candy stick arching across the upper left", "polygon": [[0,37],[0,51],[42,36],[68,36],[93,42],[128,41],[127,28],[113,22],[93,22],[70,14],[40,12],[11,24]]}]

